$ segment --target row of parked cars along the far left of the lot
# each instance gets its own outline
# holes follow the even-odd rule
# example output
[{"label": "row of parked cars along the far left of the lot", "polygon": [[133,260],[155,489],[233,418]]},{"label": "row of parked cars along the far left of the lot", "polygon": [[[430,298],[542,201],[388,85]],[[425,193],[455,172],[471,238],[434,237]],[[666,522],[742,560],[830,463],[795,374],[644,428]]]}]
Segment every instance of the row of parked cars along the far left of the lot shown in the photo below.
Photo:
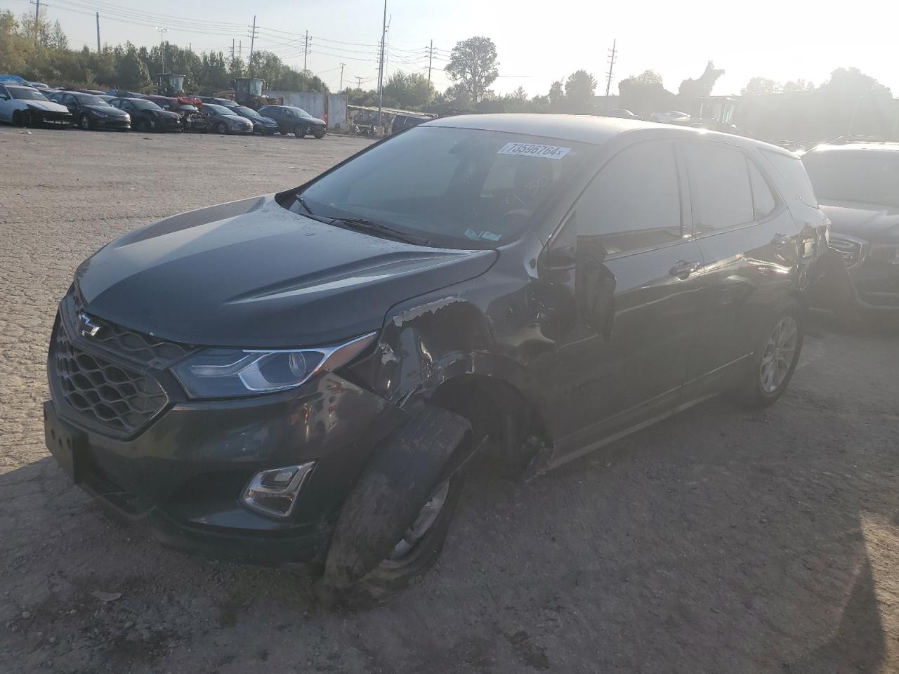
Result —
[{"label": "row of parked cars along the far left of the lot", "polygon": [[266,105],[259,111],[212,97],[153,96],[132,92],[102,93],[37,88],[0,83],[0,121],[15,126],[76,126],[80,129],[194,131],[271,136],[325,137],[327,124],[289,105]]}]

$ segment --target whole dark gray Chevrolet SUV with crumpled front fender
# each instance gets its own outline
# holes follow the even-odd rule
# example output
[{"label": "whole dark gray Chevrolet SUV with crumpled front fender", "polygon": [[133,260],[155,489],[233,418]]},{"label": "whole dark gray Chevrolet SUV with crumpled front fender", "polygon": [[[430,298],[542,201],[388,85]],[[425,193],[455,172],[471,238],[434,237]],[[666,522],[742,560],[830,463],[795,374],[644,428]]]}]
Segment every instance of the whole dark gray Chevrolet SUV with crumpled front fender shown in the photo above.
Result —
[{"label": "whole dark gray Chevrolet SUV with crumpled front fender", "polygon": [[540,472],[719,392],[776,400],[827,249],[806,193],[740,137],[433,120],[85,261],[47,444],[165,545],[379,596],[434,562],[476,452]]}]

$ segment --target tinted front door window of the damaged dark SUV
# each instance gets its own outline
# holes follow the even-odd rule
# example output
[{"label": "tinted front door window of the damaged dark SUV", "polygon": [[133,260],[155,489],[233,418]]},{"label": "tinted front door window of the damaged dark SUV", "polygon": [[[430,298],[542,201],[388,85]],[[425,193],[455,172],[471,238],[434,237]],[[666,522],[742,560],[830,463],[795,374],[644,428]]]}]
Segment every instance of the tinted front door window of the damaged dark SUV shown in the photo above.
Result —
[{"label": "tinted front door window of the damaged dark SUV", "polygon": [[640,143],[610,159],[576,205],[579,238],[608,254],[681,240],[681,186],[672,143]]}]

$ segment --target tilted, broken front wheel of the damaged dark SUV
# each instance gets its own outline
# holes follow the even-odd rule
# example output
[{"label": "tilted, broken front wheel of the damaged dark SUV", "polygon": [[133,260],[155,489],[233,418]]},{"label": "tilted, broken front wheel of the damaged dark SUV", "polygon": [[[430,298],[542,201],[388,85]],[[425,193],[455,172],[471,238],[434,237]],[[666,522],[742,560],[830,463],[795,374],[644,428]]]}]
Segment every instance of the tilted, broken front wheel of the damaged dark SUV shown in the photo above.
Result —
[{"label": "tilted, broken front wheel of the damaged dark SUV", "polygon": [[404,590],[437,560],[461,477],[447,466],[470,448],[471,426],[425,408],[378,447],[343,504],[316,594],[360,604]]}]

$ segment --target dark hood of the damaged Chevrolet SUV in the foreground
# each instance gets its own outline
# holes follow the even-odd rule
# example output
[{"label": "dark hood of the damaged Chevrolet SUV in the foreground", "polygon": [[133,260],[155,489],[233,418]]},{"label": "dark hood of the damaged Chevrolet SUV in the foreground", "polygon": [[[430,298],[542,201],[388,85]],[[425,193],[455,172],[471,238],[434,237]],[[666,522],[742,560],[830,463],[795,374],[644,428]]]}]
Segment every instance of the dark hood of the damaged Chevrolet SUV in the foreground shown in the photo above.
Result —
[{"label": "dark hood of the damaged Chevrolet SUV in the foreground", "polygon": [[289,348],[378,330],[390,306],[496,256],[352,232],[268,195],[141,227],[83,262],[76,284],[88,314],[165,340]]}]

